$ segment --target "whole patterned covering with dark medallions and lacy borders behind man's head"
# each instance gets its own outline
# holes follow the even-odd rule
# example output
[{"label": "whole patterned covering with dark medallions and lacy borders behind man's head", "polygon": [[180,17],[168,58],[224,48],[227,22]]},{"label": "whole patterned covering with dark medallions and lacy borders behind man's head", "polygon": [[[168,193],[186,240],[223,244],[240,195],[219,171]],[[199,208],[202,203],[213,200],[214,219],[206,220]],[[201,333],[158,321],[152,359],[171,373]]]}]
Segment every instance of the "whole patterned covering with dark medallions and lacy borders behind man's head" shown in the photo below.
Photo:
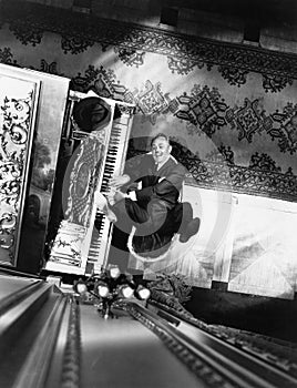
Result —
[{"label": "whole patterned covering with dark medallions and lacy borders behind man's head", "polygon": [[167,132],[192,184],[297,201],[297,55],[22,3],[0,62],[134,103],[130,155]]}]

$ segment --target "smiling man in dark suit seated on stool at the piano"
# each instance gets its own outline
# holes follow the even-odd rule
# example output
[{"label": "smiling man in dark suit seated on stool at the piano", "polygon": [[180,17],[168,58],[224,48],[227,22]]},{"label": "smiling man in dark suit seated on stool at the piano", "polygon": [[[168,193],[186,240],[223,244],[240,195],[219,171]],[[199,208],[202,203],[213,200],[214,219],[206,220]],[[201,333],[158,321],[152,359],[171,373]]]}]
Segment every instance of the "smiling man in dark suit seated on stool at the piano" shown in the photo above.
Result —
[{"label": "smiling man in dark suit seated on stool at the piano", "polygon": [[168,137],[160,133],[151,142],[152,152],[127,161],[123,175],[111,181],[117,191],[113,206],[103,207],[117,229],[130,234],[135,226],[133,248],[137,254],[157,257],[166,252],[174,234],[185,243],[198,232],[190,203],[178,197],[186,170],[172,155]]}]

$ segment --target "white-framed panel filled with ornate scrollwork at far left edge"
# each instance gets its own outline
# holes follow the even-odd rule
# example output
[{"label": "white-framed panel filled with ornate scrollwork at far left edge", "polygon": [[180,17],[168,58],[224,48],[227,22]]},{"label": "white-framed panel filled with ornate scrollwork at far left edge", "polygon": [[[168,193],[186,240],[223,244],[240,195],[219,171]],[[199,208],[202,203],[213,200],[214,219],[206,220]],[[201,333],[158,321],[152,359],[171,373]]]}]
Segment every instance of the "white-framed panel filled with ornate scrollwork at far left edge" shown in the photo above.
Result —
[{"label": "white-framed panel filled with ornate scrollwork at far left edge", "polygon": [[16,265],[40,81],[0,65],[0,263]]}]

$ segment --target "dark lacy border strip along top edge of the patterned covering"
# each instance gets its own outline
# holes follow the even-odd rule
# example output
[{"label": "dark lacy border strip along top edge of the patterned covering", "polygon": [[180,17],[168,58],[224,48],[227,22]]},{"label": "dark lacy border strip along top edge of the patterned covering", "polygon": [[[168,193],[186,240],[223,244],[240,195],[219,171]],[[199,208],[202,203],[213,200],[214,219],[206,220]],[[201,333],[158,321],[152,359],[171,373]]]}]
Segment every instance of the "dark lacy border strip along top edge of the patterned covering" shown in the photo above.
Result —
[{"label": "dark lacy border strip along top edge of the patterned covering", "polygon": [[[65,23],[64,21],[68,20]],[[64,53],[79,53],[100,43],[103,50],[110,45],[183,59],[199,68],[221,65],[242,72],[254,71],[297,79],[297,54],[246,47],[238,43],[215,41],[205,38],[174,33],[115,20],[106,20],[41,4],[10,1],[1,6],[0,25],[8,22],[10,30],[23,44],[41,43],[43,33],[61,34]]]}]

